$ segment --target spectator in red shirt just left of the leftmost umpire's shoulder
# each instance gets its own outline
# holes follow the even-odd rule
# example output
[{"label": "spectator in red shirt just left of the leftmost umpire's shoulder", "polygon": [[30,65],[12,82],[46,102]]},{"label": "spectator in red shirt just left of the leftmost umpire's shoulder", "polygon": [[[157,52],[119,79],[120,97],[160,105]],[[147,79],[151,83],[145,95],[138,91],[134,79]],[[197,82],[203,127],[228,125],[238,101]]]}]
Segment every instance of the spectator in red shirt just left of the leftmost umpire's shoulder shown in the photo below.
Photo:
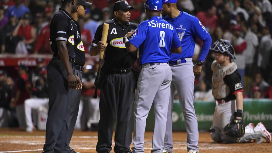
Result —
[{"label": "spectator in red shirt just left of the leftmost umpire's shoulder", "polygon": [[[51,19],[49,19],[49,23],[50,23],[50,21],[51,21]],[[50,38],[50,25],[47,24],[41,29],[41,31],[37,37],[36,45],[34,47],[35,54],[37,54],[37,53],[42,53],[42,54],[50,53],[50,46],[48,44],[49,38]]]}]

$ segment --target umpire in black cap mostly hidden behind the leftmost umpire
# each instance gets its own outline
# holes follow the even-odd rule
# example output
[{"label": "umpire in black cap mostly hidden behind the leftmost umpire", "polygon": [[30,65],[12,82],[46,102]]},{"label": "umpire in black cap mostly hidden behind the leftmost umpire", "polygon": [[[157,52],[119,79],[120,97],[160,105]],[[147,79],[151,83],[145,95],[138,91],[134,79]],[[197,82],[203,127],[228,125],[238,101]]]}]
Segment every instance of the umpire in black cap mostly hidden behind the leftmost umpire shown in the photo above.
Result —
[{"label": "umpire in black cap mostly hidden behind the leftmost umpire", "polygon": [[[72,13],[71,16],[73,17],[73,29],[74,33],[74,49],[75,49],[75,54],[76,54],[76,61],[73,64],[73,68],[75,70],[75,75],[77,75],[78,78],[80,78],[82,82],[82,71],[84,69],[84,64],[85,64],[85,49],[83,46],[83,42],[81,39],[81,30],[80,30],[80,25],[78,24],[77,20],[79,18],[83,18],[85,16],[86,12],[86,6],[90,6],[92,3],[86,2],[85,0],[78,0],[77,1],[77,11],[75,13]],[[71,95],[71,107],[70,107],[70,118],[68,120],[68,138],[67,138],[67,144],[69,145],[68,150],[71,153],[77,153],[76,151],[73,150],[73,148],[70,147],[70,141],[73,135],[73,131],[75,128],[75,124],[77,121],[77,115],[78,115],[78,110],[79,110],[79,103],[80,103],[80,97],[81,97],[81,90],[82,88],[80,87],[79,90],[73,89],[72,95]]]}]

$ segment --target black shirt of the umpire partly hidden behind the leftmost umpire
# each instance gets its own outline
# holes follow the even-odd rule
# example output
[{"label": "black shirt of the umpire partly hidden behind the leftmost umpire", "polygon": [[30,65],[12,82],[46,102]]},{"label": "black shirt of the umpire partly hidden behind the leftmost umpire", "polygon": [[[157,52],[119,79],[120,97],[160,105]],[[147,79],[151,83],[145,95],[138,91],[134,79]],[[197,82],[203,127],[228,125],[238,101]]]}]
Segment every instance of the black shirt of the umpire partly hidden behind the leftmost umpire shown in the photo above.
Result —
[{"label": "black shirt of the umpire partly hidden behind the leftmost umpire", "polygon": [[84,66],[85,64],[85,50],[83,46],[83,42],[81,40],[81,31],[80,25],[77,23],[76,20],[73,19],[73,27],[74,27],[74,48],[76,54],[76,61],[75,65]]}]

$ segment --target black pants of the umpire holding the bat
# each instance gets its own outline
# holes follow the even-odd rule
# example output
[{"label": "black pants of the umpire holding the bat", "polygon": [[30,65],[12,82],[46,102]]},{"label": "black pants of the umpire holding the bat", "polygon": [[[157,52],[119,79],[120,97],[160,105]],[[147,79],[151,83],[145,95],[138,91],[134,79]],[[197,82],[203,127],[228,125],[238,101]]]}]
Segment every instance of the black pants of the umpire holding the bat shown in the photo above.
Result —
[{"label": "black pants of the umpire holding the bat", "polygon": [[130,151],[131,111],[135,97],[135,84],[133,72],[107,74],[105,77],[100,92],[97,152],[111,151],[111,140],[116,120],[114,152]]}]

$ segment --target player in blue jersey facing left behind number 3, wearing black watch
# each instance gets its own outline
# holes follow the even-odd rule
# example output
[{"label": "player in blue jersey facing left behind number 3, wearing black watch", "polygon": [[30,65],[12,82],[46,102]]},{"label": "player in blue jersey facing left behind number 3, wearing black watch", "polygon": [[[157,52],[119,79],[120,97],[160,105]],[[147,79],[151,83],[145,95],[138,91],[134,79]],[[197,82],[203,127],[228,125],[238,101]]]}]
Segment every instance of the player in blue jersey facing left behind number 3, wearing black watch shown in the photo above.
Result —
[{"label": "player in blue jersey facing left behind number 3, wearing black watch", "polygon": [[[173,152],[172,140],[172,107],[173,97],[177,91],[179,103],[182,108],[187,131],[188,153],[199,152],[198,125],[194,109],[194,81],[195,74],[202,69],[210,45],[211,36],[198,18],[177,9],[177,0],[163,0],[162,16],[168,23],[174,26],[182,46],[181,54],[170,53],[169,65],[172,69],[171,95],[167,114],[167,127],[164,139],[164,151]],[[192,56],[196,44],[196,37],[203,41],[199,60],[194,66]]]}]

